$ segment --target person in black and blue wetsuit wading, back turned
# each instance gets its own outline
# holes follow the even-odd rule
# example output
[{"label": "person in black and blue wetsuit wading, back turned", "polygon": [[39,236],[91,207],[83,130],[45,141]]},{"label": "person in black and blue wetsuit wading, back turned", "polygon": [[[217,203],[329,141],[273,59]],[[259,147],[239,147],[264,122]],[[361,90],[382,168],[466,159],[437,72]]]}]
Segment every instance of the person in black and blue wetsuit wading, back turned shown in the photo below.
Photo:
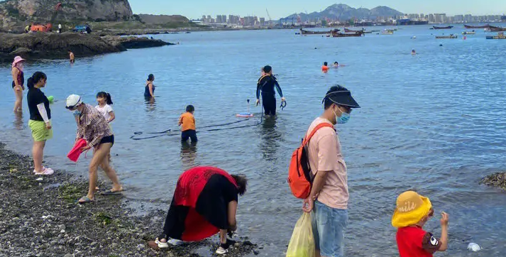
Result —
[{"label": "person in black and blue wetsuit wading, back turned", "polygon": [[260,77],[256,87],[256,104],[258,105],[258,103],[260,103],[260,92],[262,92],[262,104],[265,115],[275,116],[276,93],[274,92],[274,87],[276,88],[277,94],[280,94],[281,102],[285,102],[285,97],[283,97],[280,84],[277,83],[276,77],[273,75],[273,67],[267,65],[263,67],[263,72],[265,72],[265,75]]}]

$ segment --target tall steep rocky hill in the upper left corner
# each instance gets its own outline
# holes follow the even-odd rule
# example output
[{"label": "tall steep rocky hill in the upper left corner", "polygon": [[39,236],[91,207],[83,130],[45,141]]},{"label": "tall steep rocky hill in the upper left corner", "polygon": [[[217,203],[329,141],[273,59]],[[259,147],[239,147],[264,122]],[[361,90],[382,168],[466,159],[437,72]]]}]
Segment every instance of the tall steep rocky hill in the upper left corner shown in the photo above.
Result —
[{"label": "tall steep rocky hill in the upper left corner", "polygon": [[56,22],[127,21],[133,14],[128,0],[6,0],[0,1],[0,28],[47,23],[59,2]]}]

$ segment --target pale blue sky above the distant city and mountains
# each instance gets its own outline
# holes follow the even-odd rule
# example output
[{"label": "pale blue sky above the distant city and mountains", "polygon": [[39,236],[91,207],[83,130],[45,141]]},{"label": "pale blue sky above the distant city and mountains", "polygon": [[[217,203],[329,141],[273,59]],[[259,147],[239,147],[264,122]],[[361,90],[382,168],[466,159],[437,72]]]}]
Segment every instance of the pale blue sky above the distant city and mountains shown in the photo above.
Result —
[{"label": "pale blue sky above the distant city and mountains", "polygon": [[180,14],[187,18],[215,17],[218,14],[258,16],[273,19],[284,18],[292,13],[323,11],[332,4],[348,4],[353,8],[372,9],[388,6],[403,13],[455,14],[502,14],[506,13],[506,0],[129,0],[133,13]]}]

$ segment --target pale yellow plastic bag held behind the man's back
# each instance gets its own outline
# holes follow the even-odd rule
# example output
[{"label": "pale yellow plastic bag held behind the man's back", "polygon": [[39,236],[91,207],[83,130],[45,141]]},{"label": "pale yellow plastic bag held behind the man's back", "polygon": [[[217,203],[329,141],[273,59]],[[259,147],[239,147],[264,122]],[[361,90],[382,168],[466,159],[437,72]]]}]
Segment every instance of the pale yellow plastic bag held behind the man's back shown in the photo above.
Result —
[{"label": "pale yellow plastic bag held behind the man's back", "polygon": [[311,214],[304,212],[295,224],[286,257],[314,257],[314,254]]}]

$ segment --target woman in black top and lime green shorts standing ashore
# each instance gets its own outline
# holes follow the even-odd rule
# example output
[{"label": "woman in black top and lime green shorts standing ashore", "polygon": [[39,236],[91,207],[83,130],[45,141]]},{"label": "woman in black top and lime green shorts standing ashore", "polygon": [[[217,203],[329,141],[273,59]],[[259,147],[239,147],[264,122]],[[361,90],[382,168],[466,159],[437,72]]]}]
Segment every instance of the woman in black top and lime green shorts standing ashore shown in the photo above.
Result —
[{"label": "woman in black top and lime green shorts standing ashore", "polygon": [[33,137],[33,164],[35,175],[52,175],[54,170],[45,168],[42,165],[44,156],[45,141],[53,138],[53,126],[51,126],[51,109],[49,108],[48,97],[40,90],[45,87],[48,77],[43,72],[35,72],[28,79],[28,110],[30,110],[30,121],[28,126]]}]

